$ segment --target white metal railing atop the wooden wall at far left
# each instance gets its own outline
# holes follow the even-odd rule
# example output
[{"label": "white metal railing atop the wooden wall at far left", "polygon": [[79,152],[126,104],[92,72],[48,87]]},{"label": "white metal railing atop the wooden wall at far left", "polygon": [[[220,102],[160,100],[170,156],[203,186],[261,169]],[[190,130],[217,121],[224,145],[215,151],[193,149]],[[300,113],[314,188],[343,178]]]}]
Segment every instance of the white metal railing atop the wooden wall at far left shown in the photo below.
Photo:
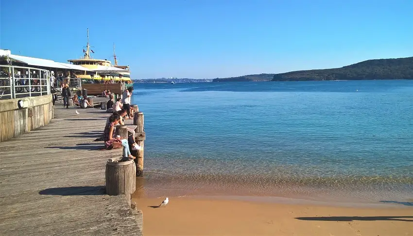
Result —
[{"label": "white metal railing atop the wooden wall at far left", "polygon": [[0,65],[0,99],[50,94],[50,71],[34,67]]}]

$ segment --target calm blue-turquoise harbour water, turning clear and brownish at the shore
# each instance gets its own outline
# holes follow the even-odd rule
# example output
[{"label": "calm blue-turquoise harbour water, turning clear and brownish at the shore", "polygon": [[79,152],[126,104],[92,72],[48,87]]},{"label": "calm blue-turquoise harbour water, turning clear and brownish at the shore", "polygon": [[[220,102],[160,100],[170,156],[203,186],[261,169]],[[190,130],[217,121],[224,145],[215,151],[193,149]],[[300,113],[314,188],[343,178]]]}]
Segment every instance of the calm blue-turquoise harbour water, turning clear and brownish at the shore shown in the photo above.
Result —
[{"label": "calm blue-turquoise harbour water, turning clear and brownish at the shore", "polygon": [[135,84],[145,191],[413,198],[413,81]]}]

